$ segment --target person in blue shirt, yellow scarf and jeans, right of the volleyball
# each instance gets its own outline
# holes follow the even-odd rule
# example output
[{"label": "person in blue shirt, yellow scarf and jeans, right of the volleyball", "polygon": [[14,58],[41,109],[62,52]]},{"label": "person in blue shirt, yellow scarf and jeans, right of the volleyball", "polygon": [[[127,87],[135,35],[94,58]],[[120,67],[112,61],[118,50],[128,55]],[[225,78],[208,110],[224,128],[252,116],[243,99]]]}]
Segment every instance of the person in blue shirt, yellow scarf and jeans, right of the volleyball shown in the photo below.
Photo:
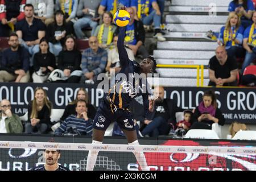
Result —
[{"label": "person in blue shirt, yellow scarf and jeans, right of the volleyball", "polygon": [[[166,41],[166,38],[163,37],[163,32],[160,30],[161,12],[156,0],[131,1],[131,7],[137,12],[138,19],[141,19],[144,25],[154,23],[154,37],[157,38],[158,41]],[[137,17],[135,19],[137,19]]]}]

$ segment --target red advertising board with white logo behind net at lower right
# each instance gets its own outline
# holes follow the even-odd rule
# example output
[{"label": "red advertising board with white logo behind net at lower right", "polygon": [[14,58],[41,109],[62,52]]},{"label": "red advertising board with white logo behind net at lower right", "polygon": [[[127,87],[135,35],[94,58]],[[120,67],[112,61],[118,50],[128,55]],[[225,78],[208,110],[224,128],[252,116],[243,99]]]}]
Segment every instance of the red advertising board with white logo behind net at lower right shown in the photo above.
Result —
[{"label": "red advertising board with white logo behind net at lower right", "polygon": [[[164,146],[180,146],[177,148],[179,152],[145,152],[144,155],[148,166],[151,170],[156,171],[247,171],[256,170],[256,158],[254,154],[256,151],[250,148],[243,150],[247,155],[237,155],[233,148],[227,149],[223,154],[218,148],[214,150],[209,147],[203,148],[205,142],[195,140],[168,140],[164,142]],[[239,144],[229,142],[223,144],[222,142],[208,142],[208,146],[236,146]],[[185,146],[192,146],[192,152],[186,152]],[[195,148],[193,148],[195,146]],[[201,146],[202,148],[198,148]],[[241,146],[242,147],[242,146]],[[243,146],[244,147],[244,146]],[[159,147],[161,148],[161,147]],[[153,150],[152,147],[144,147],[144,151]],[[159,150],[158,150],[159,151]],[[205,154],[205,152],[214,151],[212,154]],[[252,155],[253,154],[253,155]],[[161,156],[161,158],[159,158]]]}]

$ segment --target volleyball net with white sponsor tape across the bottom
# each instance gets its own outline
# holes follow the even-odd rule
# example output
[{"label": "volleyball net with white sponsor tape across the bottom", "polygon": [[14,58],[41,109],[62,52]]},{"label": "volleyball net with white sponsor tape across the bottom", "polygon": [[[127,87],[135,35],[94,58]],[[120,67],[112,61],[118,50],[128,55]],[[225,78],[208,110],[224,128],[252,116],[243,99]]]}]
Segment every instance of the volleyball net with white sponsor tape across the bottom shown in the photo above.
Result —
[{"label": "volleyball net with white sponsor tape across the bottom", "polygon": [[0,170],[27,171],[45,163],[45,150],[60,150],[58,163],[85,171],[89,150],[99,151],[94,170],[138,171],[133,152],[143,152],[151,171],[256,170],[254,146],[168,146],[0,141]]}]

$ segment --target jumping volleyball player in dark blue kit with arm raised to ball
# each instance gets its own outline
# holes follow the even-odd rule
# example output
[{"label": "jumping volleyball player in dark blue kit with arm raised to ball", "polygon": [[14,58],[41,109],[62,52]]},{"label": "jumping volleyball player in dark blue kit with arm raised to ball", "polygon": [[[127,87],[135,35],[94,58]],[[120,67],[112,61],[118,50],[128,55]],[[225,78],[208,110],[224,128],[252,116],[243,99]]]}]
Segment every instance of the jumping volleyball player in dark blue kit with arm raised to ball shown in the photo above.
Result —
[{"label": "jumping volleyball player in dark blue kit with arm raised to ball", "polygon": [[[153,111],[154,101],[148,100],[148,96],[151,94],[151,89],[146,81],[148,73],[153,73],[156,67],[156,61],[154,57],[149,56],[142,60],[140,64],[131,61],[127,55],[124,47],[126,27],[119,27],[118,35],[118,53],[121,64],[121,71],[126,78],[119,78],[113,88],[110,88],[109,93],[105,94],[93,122],[93,137],[92,144],[101,144],[104,139],[104,134],[108,126],[112,121],[116,121],[121,127],[123,133],[125,133],[127,141],[130,145],[139,144],[137,139],[137,133],[135,130],[135,123],[131,118],[131,113],[127,109],[129,103],[135,96],[140,94],[143,97],[144,110],[147,115],[149,111]],[[138,73],[139,78],[135,73]],[[141,75],[144,73],[144,76]],[[118,76],[117,76],[118,77]],[[146,84],[142,84],[145,83]],[[148,102],[149,101],[149,102]],[[141,169],[147,171],[147,162],[143,152],[133,152]],[[87,157],[86,171],[92,171],[97,160],[98,151],[89,151]]]}]

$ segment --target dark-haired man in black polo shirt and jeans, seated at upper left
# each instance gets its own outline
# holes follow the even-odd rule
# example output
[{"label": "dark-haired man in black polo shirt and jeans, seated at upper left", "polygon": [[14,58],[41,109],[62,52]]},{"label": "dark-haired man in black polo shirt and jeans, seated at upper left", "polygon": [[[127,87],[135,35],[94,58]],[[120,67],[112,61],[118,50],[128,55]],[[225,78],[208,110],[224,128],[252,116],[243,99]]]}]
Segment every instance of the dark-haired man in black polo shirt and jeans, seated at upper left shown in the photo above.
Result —
[{"label": "dark-haired man in black polo shirt and jeans, seated at upper left", "polygon": [[25,19],[16,24],[16,34],[19,41],[30,55],[32,55],[31,63],[33,64],[33,56],[39,52],[39,42],[46,35],[46,26],[40,19],[34,18],[34,7],[31,4],[24,6]]}]

